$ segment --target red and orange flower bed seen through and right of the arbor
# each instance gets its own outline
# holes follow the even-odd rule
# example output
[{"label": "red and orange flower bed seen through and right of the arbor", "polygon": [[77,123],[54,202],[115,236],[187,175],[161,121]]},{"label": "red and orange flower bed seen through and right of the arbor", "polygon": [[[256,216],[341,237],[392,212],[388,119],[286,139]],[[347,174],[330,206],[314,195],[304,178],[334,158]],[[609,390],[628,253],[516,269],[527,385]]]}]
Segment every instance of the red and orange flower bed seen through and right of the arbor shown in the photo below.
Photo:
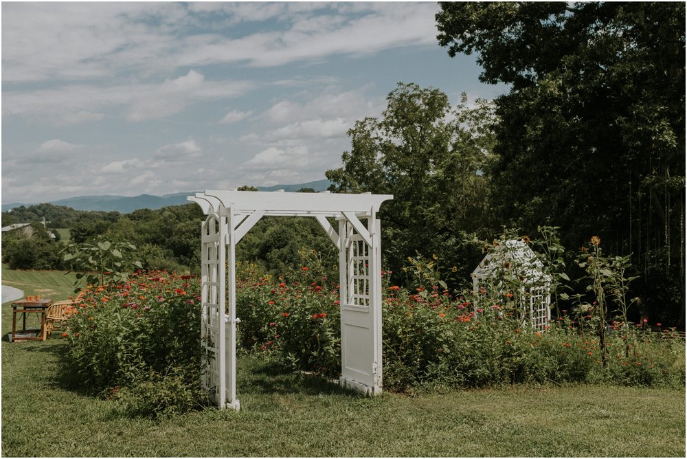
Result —
[{"label": "red and orange flower bed seen through and right of the arbor", "polygon": [[[424,258],[413,261],[412,269],[420,265],[427,271]],[[287,283],[242,265],[237,292],[240,342],[291,368],[332,377],[340,372],[337,289],[311,282],[317,274],[309,269],[300,271],[304,281]],[[432,276],[429,281],[436,280]],[[504,273],[504,278],[510,277]],[[420,280],[428,281],[423,275]],[[665,333],[662,339],[658,333],[632,328],[622,335],[618,328],[601,341],[596,328],[592,335],[584,333],[589,320],[581,327],[580,317],[567,316],[541,330],[532,329],[523,326],[518,300],[504,294],[507,288],[514,288],[507,280],[458,295],[442,290],[440,284],[414,291],[387,287],[385,388],[416,391],[513,383],[684,386],[684,342],[676,334]],[[628,342],[635,346],[629,357],[624,352]]]}]

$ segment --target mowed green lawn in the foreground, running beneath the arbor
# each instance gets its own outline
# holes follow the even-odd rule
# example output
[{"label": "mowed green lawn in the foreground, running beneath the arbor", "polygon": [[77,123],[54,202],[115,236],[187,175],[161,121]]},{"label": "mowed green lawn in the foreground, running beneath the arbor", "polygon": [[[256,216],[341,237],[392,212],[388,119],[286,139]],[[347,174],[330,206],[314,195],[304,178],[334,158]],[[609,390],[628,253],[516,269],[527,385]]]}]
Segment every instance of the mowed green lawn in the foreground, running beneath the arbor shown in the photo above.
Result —
[{"label": "mowed green lawn in the foreground, running beneath the arbor", "polygon": [[240,412],[151,421],[74,389],[64,350],[60,337],[3,340],[3,456],[685,455],[684,390],[522,386],[370,399],[240,356]]}]

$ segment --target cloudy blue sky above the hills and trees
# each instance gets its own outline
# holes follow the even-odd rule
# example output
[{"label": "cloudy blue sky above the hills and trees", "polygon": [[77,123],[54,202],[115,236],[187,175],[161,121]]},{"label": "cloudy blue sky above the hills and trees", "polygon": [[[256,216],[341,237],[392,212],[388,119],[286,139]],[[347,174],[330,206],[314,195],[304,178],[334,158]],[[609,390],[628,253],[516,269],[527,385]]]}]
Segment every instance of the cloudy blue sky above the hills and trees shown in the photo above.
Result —
[{"label": "cloudy blue sky above the hills and trees", "polygon": [[324,179],[397,82],[494,98],[436,3],[2,3],[2,202]]}]

